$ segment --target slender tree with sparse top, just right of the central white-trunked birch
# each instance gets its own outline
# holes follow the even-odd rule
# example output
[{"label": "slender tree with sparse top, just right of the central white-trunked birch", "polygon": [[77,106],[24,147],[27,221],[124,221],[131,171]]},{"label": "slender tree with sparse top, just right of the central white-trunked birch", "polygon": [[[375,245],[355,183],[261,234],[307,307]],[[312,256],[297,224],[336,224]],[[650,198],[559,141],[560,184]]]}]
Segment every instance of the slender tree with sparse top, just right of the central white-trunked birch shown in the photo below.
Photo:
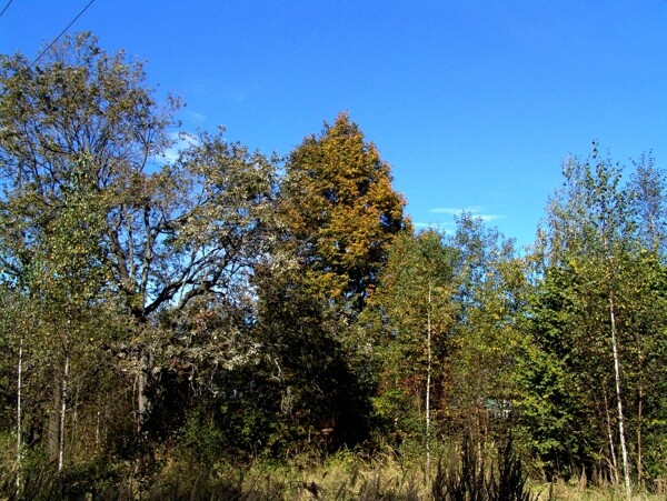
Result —
[{"label": "slender tree with sparse top, just right of the central white-trunked birch", "polygon": [[526,263],[506,239],[479,218],[464,213],[448,244],[456,250],[452,329],[452,431],[485,440],[489,418],[507,420],[516,401],[516,355],[529,291]]}]

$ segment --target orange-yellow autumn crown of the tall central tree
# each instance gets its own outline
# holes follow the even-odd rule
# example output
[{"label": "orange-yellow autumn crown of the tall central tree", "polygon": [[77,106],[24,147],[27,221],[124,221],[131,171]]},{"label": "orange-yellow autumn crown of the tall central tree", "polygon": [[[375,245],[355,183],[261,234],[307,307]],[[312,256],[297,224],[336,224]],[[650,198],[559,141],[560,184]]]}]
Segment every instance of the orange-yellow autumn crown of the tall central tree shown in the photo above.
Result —
[{"label": "orange-yellow autumn crown of the tall central tree", "polygon": [[391,189],[389,167],[347,113],[292,151],[281,191],[280,214],[306,243],[301,252],[316,270],[345,283],[329,292],[364,293],[405,228],[405,201]]}]

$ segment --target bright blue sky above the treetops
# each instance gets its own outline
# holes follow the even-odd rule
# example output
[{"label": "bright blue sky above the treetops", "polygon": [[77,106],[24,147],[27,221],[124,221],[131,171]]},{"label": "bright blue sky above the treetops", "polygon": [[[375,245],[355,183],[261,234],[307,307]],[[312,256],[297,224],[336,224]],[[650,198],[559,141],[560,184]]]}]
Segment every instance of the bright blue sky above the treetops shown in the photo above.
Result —
[{"label": "bright blue sky above the treetops", "polygon": [[[13,0],[0,52],[36,56],[88,1]],[[418,227],[469,209],[531,243],[569,153],[667,158],[666,1],[96,0],[82,30],[146,59],[186,128],[266,153],[349,111]]]}]

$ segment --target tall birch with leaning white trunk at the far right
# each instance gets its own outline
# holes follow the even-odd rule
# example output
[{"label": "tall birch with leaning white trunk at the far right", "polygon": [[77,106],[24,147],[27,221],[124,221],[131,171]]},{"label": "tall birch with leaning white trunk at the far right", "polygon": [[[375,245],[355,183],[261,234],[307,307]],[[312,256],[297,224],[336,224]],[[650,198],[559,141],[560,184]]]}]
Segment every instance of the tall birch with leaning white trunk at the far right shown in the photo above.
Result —
[{"label": "tall birch with leaning white trunk at the far right", "polygon": [[644,311],[661,303],[656,284],[660,267],[656,268],[655,261],[651,264],[649,254],[658,255],[657,236],[664,219],[659,184],[648,182],[657,179],[657,171],[639,169],[639,178],[629,183],[624,182],[623,171],[601,158],[597,146],[588,161],[566,162],[564,187],[549,204],[542,233],[545,283],[549,277],[565,279],[551,294],[561,300],[559,307],[549,305],[535,319],[554,318],[555,311],[547,313],[554,307],[560,310],[557,314],[568,318],[557,328],[564,329],[567,340],[561,343],[563,355],[583,384],[581,391],[588,392],[581,403],[593,411],[589,415],[597,415],[594,428],[607,437],[609,464],[617,471],[618,461],[619,477],[630,495],[633,452],[637,454],[636,473],[641,475],[646,387],[640,381],[646,381],[646,347],[658,340],[663,330],[663,315],[649,321]]}]

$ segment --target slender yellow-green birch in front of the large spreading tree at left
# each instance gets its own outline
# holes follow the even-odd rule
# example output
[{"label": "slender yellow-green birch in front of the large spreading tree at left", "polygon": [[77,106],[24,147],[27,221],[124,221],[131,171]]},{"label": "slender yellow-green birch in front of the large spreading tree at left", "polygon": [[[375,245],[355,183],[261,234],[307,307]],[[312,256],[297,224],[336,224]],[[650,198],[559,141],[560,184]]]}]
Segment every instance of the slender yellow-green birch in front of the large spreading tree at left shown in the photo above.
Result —
[{"label": "slender yellow-green birch in front of the large spreading tree at left", "polygon": [[[13,347],[24,347],[22,358],[32,367],[29,379],[22,374],[27,388],[39,388],[32,380],[41,380],[41,387],[54,395],[47,405],[49,448],[58,458],[59,470],[63,465],[66,395],[73,392],[79,403],[88,400],[84,382],[97,375],[98,363],[104,359],[99,351],[103,331],[93,327],[106,315],[100,298],[108,274],[98,246],[103,219],[89,191],[88,162],[81,158],[72,167],[71,181],[62,182],[57,207],[48,212],[37,209],[39,197],[28,189],[8,193],[0,212],[3,257],[11,261],[12,272],[20,265],[19,273],[6,273],[16,289],[13,305],[20,305],[13,310],[13,319],[24,325],[11,333]],[[16,234],[20,238],[12,239]],[[22,395],[31,403],[44,398],[44,393],[28,391]]]}]

